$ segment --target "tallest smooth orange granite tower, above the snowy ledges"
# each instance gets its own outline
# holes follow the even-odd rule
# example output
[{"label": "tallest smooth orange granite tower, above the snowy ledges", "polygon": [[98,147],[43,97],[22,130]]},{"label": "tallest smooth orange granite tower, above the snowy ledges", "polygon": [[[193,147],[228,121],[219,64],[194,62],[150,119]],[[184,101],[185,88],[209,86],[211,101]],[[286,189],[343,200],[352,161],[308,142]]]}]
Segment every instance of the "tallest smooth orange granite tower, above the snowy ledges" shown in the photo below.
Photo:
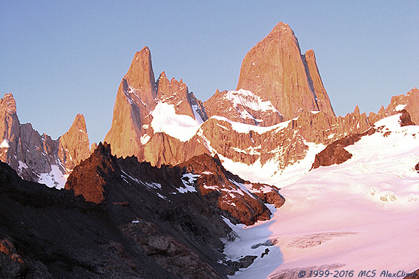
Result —
[{"label": "tallest smooth orange granite tower, above the snowy ledges", "polygon": [[282,22],[244,57],[239,89],[270,100],[284,120],[295,118],[303,110],[334,115],[318,75],[314,52],[302,56],[294,32]]}]

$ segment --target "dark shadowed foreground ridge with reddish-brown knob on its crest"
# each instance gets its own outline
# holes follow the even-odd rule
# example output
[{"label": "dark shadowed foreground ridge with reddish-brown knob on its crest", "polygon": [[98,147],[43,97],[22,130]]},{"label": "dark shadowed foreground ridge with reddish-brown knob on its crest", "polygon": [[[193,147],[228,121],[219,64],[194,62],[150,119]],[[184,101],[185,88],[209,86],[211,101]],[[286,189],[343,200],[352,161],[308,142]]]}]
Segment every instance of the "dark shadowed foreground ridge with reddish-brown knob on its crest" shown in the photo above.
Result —
[{"label": "dark shadowed foreground ridge with reddish-brown knob on its crest", "polygon": [[[207,163],[199,167],[215,172]],[[99,144],[56,190],[0,163],[0,278],[227,278],[240,261],[224,259],[220,239],[235,234],[221,216],[240,220],[186,170],[116,158]]]}]

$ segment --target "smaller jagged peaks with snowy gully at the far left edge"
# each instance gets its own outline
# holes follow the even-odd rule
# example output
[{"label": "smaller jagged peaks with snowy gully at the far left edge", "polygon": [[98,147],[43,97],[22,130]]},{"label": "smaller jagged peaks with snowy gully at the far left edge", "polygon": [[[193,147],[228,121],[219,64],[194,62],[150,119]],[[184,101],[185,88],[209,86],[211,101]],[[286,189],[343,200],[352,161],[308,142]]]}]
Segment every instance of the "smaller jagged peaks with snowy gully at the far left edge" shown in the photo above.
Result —
[{"label": "smaller jagged peaks with snowy gully at the far left edge", "polygon": [[84,116],[78,114],[70,130],[58,140],[40,135],[31,123],[20,124],[13,94],[0,100],[0,160],[22,178],[63,187],[65,174],[89,156]]}]

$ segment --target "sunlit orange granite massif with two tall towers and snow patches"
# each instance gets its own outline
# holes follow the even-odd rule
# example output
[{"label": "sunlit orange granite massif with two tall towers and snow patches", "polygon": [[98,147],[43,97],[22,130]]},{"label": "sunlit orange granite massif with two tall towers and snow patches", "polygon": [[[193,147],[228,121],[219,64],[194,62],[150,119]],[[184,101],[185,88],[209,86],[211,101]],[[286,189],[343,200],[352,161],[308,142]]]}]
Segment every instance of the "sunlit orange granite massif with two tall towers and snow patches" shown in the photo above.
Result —
[{"label": "sunlit orange granite massif with two tall towers and snow patches", "polygon": [[[154,82],[151,54],[143,48],[119,87],[105,141],[116,156],[134,155],[157,166],[219,154],[221,161],[274,163],[282,172],[305,158],[313,144],[363,133],[404,107],[418,111],[418,96],[415,88],[377,114],[361,114],[357,106],[335,116],[313,50],[301,54],[293,31],[280,22],[245,56],[237,90],[217,90],[204,103],[164,72]],[[413,121],[417,117],[413,112]]]}]

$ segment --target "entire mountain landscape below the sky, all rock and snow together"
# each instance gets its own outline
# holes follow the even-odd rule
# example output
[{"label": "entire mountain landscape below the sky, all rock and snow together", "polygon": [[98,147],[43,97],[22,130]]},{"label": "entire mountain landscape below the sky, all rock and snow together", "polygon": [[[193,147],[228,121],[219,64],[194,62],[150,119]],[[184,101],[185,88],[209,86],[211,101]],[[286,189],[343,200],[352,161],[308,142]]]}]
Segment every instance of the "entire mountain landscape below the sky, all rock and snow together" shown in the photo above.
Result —
[{"label": "entire mountain landscape below the sky, all rock and snow together", "polygon": [[[119,85],[103,144],[89,144],[82,114],[59,139],[40,135],[20,123],[7,93],[0,276],[295,278],[303,268],[369,269],[353,250],[383,259],[375,269],[384,269],[390,259],[375,235],[399,255],[391,269],[412,272],[418,257],[402,254],[418,240],[415,123],[417,88],[376,113],[357,106],[336,116],[314,51],[302,54],[282,22],[244,57],[237,88],[205,102],[165,72],[156,79],[143,47]],[[351,239],[373,252],[349,251]]]}]

